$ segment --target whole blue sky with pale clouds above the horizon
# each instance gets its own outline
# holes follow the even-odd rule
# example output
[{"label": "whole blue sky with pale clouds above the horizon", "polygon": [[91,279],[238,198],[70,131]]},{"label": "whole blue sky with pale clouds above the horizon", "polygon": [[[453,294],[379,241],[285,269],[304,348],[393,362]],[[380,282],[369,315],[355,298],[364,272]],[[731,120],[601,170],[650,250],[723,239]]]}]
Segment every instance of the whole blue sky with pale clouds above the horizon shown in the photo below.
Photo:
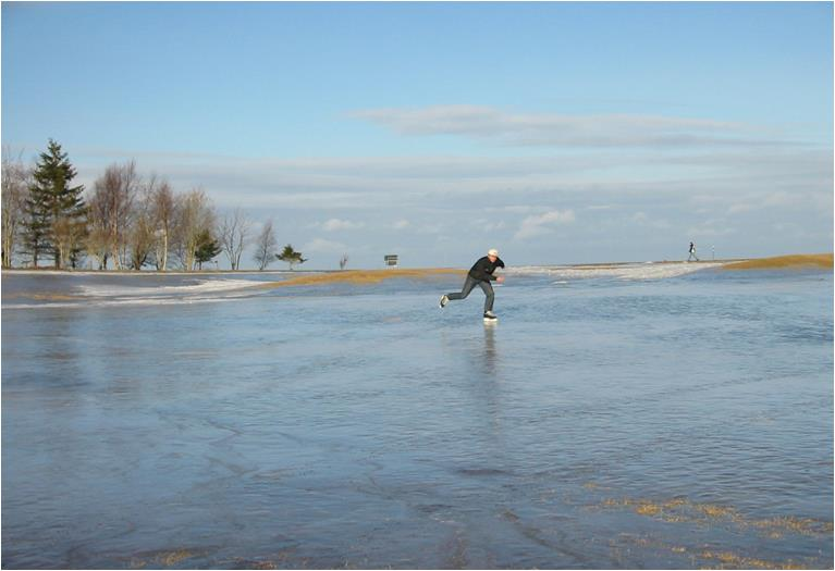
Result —
[{"label": "whole blue sky with pale clouds above the horizon", "polygon": [[135,160],[305,269],[833,249],[830,2],[1,10],[5,150]]}]

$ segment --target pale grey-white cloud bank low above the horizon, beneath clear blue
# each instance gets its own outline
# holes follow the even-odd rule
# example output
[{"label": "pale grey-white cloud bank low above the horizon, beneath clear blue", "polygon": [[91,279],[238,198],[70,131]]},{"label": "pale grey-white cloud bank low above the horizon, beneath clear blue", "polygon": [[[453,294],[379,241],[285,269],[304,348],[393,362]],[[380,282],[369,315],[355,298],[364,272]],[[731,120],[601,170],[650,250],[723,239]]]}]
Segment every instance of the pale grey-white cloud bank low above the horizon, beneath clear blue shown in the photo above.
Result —
[{"label": "pale grey-white cloud bank low above the horizon, beneath clear blue", "polygon": [[107,164],[136,157],[140,173],[156,172],[177,191],[201,187],[221,211],[273,218],[279,240],[302,244],[311,266],[342,253],[374,266],[389,252],[407,265],[466,264],[486,244],[513,263],[664,259],[690,239],[729,257],[831,249],[830,146],[687,117],[480,107],[356,116],[401,136],[453,135],[493,148],[307,158],[76,148],[72,159],[88,188]]}]

